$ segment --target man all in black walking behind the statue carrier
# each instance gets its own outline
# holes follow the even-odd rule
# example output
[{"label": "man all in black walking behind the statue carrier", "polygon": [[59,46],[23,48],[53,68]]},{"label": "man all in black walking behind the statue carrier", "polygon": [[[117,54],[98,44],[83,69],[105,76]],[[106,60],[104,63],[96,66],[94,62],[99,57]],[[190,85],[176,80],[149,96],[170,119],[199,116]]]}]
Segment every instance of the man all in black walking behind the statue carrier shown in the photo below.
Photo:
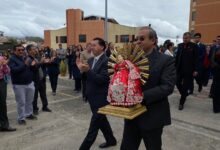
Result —
[{"label": "man all in black walking behind the statue carrier", "polygon": [[177,83],[181,94],[179,110],[183,110],[188,90],[193,85],[193,78],[198,75],[198,46],[190,42],[191,33],[183,34],[183,43],[178,45],[176,56]]}]

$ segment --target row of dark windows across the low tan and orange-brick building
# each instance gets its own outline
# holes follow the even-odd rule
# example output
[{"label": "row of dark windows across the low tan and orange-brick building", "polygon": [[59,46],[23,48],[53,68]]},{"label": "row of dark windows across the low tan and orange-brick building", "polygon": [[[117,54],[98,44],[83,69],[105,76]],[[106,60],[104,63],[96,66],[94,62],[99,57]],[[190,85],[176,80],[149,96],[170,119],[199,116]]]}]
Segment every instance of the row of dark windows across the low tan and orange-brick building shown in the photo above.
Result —
[{"label": "row of dark windows across the low tan and orange-brick building", "polygon": [[[130,41],[134,41],[135,35],[116,35],[115,36],[115,43],[128,43]],[[56,43],[67,43],[66,36],[56,36]],[[80,34],[79,35],[79,43],[86,43],[86,35]]]}]

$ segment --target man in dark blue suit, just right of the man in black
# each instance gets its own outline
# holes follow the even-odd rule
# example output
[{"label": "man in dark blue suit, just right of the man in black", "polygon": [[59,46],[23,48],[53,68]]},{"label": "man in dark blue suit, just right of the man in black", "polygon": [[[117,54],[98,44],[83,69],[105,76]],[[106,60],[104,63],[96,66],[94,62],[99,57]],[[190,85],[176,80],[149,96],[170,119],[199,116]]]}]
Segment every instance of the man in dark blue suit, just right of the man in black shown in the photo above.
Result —
[{"label": "man in dark blue suit, just right of the man in black", "polygon": [[206,54],[206,46],[201,43],[201,33],[194,34],[194,41],[198,46],[198,76],[196,76],[196,82],[198,84],[198,91],[202,91],[202,85],[205,80],[205,68],[204,68],[204,59]]}]

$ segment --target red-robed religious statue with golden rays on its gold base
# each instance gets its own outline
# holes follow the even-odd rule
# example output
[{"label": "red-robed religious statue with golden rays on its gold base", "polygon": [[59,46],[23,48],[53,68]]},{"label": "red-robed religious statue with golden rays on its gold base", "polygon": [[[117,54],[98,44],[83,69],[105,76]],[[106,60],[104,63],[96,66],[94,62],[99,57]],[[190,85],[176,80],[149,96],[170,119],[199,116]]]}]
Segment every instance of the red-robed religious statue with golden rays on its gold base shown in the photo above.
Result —
[{"label": "red-robed religious statue with golden rays on its gold base", "polygon": [[149,76],[149,63],[144,54],[138,45],[133,44],[111,51],[108,62],[111,80],[107,96],[110,105],[100,108],[98,113],[133,119],[147,111],[141,105],[141,86],[146,84]]}]

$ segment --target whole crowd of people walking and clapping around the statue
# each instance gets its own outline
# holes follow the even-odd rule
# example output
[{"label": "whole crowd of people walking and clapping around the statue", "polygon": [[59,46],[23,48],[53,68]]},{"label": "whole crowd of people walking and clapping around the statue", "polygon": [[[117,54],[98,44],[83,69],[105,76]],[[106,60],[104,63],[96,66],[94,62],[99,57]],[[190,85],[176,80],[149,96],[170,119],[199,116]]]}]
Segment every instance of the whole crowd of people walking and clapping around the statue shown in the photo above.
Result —
[{"label": "whole crowd of people walking and clapping around the statue", "polygon": [[[205,45],[202,35],[183,34],[183,43],[174,48],[171,40],[162,47],[157,46],[158,37],[151,27],[142,27],[137,33],[134,44],[138,44],[150,62],[150,76],[142,86],[143,105],[148,111],[133,120],[125,120],[121,150],[138,149],[141,140],[148,150],[160,150],[163,128],[171,124],[168,96],[174,86],[180,92],[179,110],[184,109],[188,95],[194,91],[194,79],[198,92],[213,79],[210,97],[213,99],[214,113],[220,112],[220,36],[216,43]],[[26,119],[36,120],[39,112],[38,92],[42,101],[42,111],[51,112],[46,94],[46,76],[49,76],[52,94],[56,95],[60,63],[68,65],[69,79],[75,80],[76,93],[82,91],[82,98],[89,102],[92,118],[88,134],[80,150],[88,150],[94,143],[99,129],[105,143],[100,148],[117,144],[113,131],[105,115],[98,109],[108,104],[107,94],[110,77],[108,57],[114,44],[101,38],[94,38],[85,48],[71,45],[67,49],[59,44],[59,49],[16,45],[10,58],[0,56],[0,125],[1,131],[15,131],[7,118],[7,82],[11,76],[12,88],[17,104],[17,121],[25,125]]]}]

